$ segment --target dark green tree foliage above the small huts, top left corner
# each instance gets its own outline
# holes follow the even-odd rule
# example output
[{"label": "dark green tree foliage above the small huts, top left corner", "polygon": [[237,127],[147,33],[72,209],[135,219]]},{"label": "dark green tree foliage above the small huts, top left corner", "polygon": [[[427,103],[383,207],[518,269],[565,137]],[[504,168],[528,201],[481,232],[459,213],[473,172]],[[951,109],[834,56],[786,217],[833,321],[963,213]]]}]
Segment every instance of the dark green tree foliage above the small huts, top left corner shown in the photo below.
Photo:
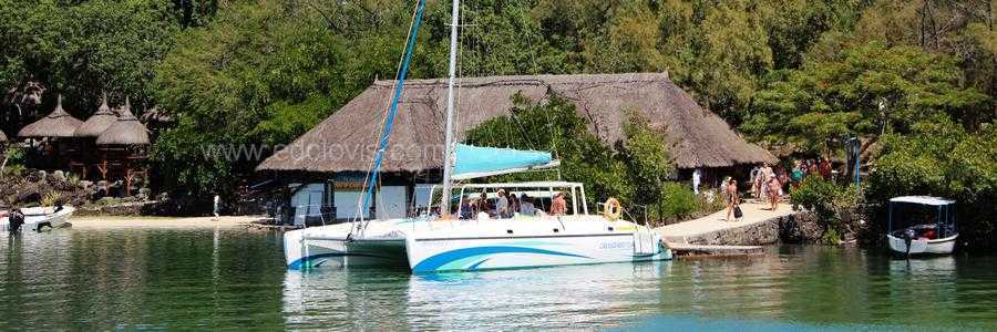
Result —
[{"label": "dark green tree foliage above the small huts, top left corner", "polygon": [[142,104],[181,29],[176,14],[151,0],[0,0],[0,86],[41,81],[68,110],[95,110],[102,91]]}]

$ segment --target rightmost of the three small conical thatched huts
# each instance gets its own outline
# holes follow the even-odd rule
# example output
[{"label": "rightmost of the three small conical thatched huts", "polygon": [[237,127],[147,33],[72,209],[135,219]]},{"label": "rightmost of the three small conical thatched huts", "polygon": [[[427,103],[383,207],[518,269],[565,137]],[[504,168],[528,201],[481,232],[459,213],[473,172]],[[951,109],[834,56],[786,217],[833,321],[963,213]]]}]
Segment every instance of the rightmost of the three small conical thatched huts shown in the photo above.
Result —
[{"label": "rightmost of the three small conical thatched huts", "polygon": [[132,105],[125,98],[125,105],[119,111],[117,121],[96,137],[101,154],[97,169],[104,179],[120,177],[125,181],[125,195],[131,196],[132,184],[136,178],[145,178],[145,159],[148,152],[148,129],[132,114]]}]

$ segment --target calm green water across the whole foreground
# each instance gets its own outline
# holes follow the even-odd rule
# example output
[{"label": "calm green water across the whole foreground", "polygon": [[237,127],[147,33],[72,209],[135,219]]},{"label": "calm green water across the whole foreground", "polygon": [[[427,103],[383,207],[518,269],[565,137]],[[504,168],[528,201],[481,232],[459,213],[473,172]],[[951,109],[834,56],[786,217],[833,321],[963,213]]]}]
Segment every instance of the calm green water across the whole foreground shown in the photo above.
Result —
[{"label": "calm green water across the whole foreground", "polygon": [[772,247],[756,259],[441,276],[287,271],[276,234],[0,235],[10,329],[997,329],[997,258]]}]

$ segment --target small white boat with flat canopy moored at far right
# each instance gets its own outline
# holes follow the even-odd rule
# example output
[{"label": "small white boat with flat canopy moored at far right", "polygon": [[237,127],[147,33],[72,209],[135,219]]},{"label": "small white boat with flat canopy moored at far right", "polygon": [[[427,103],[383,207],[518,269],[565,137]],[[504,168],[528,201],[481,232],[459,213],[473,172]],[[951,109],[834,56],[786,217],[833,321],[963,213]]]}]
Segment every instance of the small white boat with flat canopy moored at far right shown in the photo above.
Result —
[{"label": "small white boat with flat canopy moored at far right", "polygon": [[886,242],[902,255],[948,255],[959,236],[955,200],[928,196],[890,199]]}]

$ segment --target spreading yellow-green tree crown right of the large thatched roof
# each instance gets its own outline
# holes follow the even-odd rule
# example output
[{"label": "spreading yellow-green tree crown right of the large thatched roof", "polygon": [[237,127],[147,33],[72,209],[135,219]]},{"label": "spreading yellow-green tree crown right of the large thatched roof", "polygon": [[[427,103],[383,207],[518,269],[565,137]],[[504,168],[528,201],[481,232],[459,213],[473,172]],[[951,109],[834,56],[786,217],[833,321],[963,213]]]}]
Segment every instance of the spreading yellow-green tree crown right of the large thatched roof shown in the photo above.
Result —
[{"label": "spreading yellow-green tree crown right of the large thatched roof", "polygon": [[849,136],[904,134],[924,118],[984,110],[988,96],[960,76],[943,54],[870,42],[773,75],[741,129],[808,153]]}]

